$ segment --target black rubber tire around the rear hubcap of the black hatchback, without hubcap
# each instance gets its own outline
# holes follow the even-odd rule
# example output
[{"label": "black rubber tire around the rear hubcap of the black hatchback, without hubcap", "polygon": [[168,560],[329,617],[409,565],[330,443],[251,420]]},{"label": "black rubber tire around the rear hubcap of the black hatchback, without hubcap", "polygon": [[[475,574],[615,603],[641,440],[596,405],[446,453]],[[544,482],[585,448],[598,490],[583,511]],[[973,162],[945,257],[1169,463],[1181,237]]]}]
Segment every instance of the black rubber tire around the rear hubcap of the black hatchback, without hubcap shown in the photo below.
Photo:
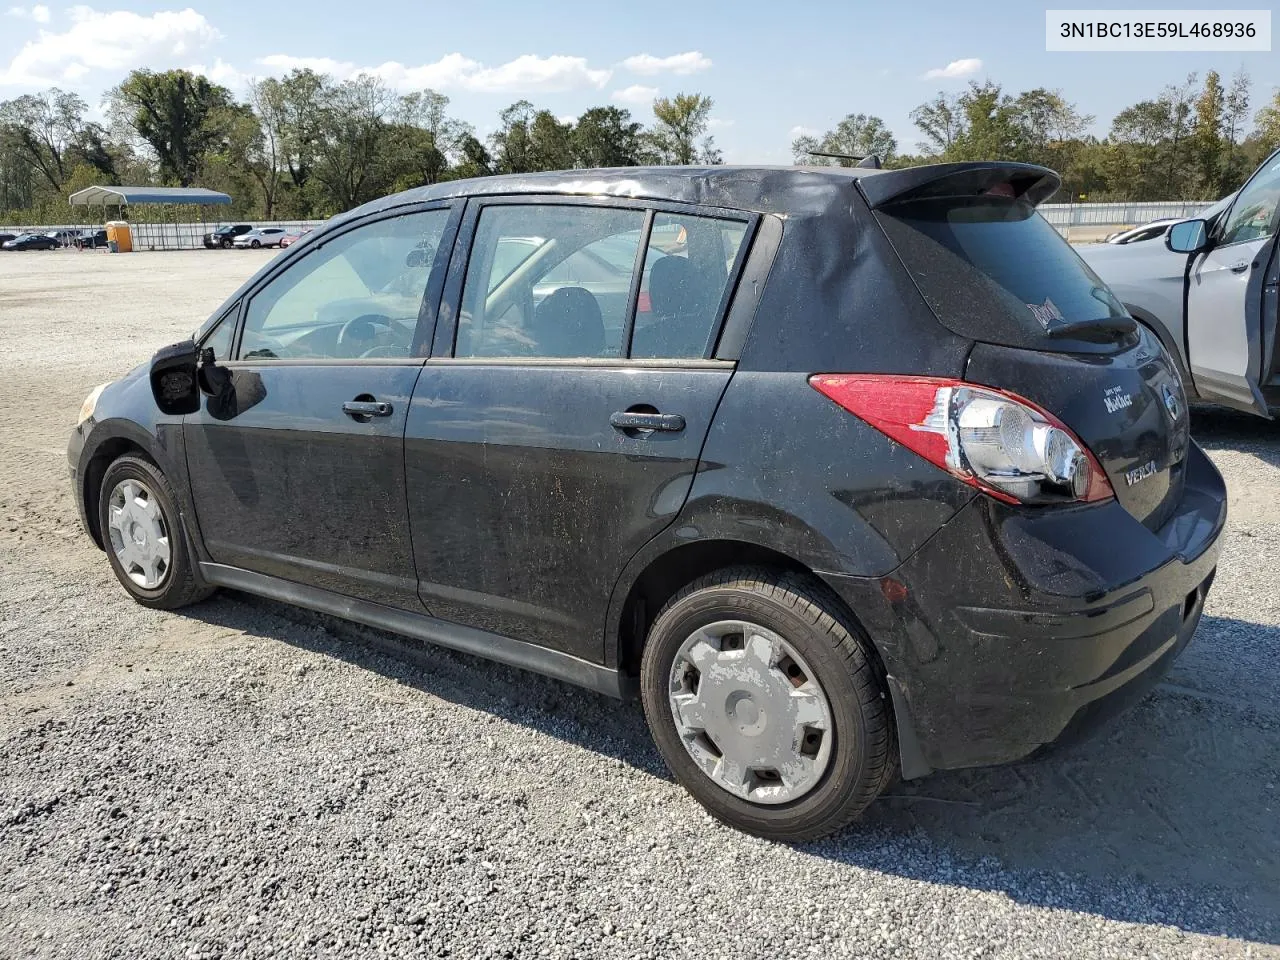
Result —
[{"label": "black rubber tire around the rear hubcap of the black hatchback, without hubcap", "polygon": [[[831,705],[835,744],[827,768],[809,792],[785,804],[751,803],[718,786],[690,756],[672,718],[669,677],[681,644],[699,627],[733,618],[759,623],[795,646]],[[795,573],[737,567],[677,593],[649,630],[640,691],[649,730],[676,780],[718,820],[767,840],[833,833],[897,774],[897,739],[870,641],[838,613],[831,594]]]}]

